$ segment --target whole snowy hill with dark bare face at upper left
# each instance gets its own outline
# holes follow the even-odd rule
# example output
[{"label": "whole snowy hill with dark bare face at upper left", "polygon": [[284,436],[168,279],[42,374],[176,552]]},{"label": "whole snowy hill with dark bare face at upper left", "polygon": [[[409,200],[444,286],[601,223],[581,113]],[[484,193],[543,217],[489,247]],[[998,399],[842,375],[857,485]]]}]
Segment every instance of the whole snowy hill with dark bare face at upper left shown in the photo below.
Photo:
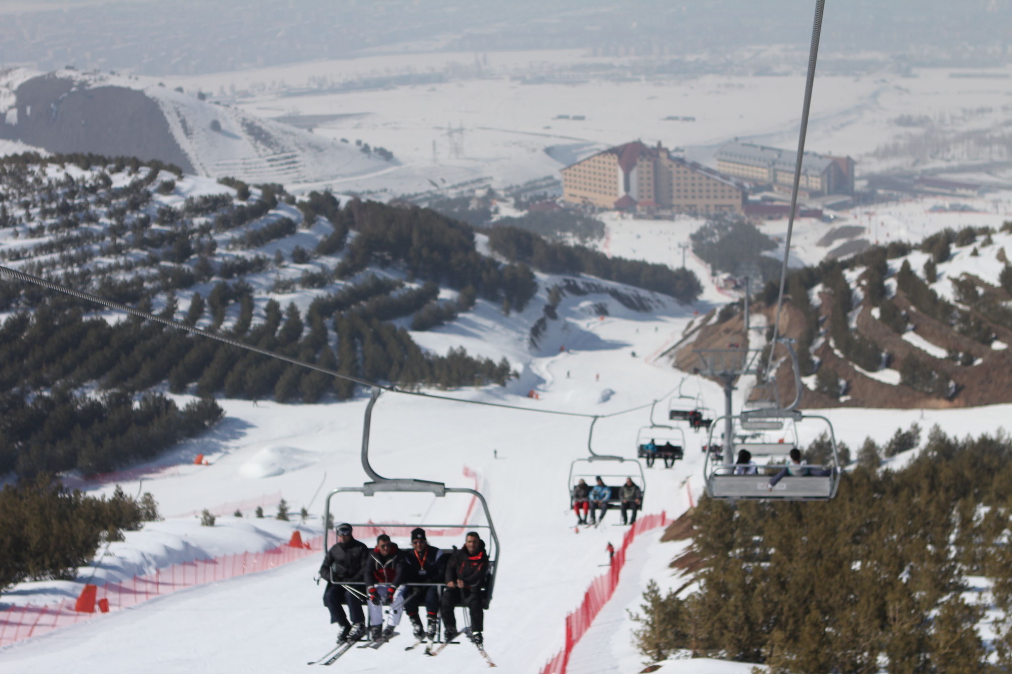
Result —
[{"label": "whole snowy hill with dark bare face at upper left", "polygon": [[333,180],[397,164],[150,78],[76,70],[0,71],[0,139],[50,152],[158,159],[254,183]]}]

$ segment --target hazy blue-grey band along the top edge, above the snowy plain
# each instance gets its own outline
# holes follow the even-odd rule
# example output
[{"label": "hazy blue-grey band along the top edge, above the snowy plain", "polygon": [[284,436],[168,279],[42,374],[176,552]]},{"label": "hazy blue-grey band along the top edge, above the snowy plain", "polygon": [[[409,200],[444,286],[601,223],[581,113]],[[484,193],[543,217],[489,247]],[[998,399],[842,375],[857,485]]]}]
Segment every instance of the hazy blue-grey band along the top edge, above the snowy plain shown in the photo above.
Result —
[{"label": "hazy blue-grey band along the top edge, above the snowy plain", "polygon": [[[187,75],[406,48],[722,55],[807,44],[814,7],[814,0],[0,0],[0,65]],[[1005,58],[1010,45],[1012,0],[827,2],[829,51],[958,56],[973,65]]]}]

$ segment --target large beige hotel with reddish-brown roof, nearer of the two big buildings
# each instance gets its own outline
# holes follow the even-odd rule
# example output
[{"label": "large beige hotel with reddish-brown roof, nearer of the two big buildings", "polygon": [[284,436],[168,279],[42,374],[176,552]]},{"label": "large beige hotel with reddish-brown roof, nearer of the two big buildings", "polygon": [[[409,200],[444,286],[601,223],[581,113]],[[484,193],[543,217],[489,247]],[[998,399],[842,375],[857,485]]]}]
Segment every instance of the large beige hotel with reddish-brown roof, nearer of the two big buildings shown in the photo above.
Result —
[{"label": "large beige hotel with reddish-brown roof, nearer of the two big buildings", "polygon": [[619,210],[741,214],[744,186],[664,147],[639,141],[563,169],[563,199]]}]

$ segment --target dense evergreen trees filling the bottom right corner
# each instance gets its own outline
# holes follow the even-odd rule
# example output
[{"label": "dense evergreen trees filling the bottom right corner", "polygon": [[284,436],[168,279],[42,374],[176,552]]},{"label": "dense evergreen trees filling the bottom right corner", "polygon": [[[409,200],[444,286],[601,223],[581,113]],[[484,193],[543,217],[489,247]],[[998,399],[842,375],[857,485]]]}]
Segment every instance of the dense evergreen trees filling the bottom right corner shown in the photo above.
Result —
[{"label": "dense evergreen trees filling the bottom right corner", "polygon": [[995,606],[1012,607],[1012,443],[935,427],[899,471],[879,469],[883,449],[865,441],[833,501],[701,499],[692,511],[698,590],[648,588],[636,615],[641,652],[688,651],[773,674],[1007,671],[1009,622],[996,624],[992,656],[977,628],[986,607],[963,593],[967,577],[983,576]]}]

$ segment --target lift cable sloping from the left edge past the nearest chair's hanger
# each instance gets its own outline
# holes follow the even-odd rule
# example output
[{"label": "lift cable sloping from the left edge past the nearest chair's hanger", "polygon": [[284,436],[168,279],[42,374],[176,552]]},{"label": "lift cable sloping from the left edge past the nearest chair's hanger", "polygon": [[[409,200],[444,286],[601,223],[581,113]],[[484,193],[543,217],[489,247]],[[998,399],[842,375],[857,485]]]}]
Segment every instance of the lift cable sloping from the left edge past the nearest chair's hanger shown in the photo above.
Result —
[{"label": "lift cable sloping from the left edge past the nearest chair's hanger", "polygon": [[[490,403],[487,401],[480,400],[466,400],[462,398],[452,398],[450,396],[439,396],[436,394],[427,394],[419,391],[405,391],[403,389],[398,389],[394,386],[384,386],[383,384],[377,384],[375,382],[369,382],[368,380],[363,380],[357,376],[352,376],[351,374],[344,374],[327,367],[321,367],[315,363],[306,362],[305,360],[300,360],[299,358],[292,358],[274,351],[269,351],[267,349],[262,349],[259,346],[254,346],[253,344],[247,344],[246,342],[239,341],[238,339],[233,339],[231,337],[226,337],[225,335],[219,335],[206,330],[201,330],[200,328],[186,325],[185,323],[179,323],[172,319],[167,319],[162,316],[157,316],[149,312],[142,311],[140,309],[135,309],[128,305],[120,304],[118,302],[113,302],[112,300],[106,300],[105,298],[100,298],[97,294],[92,294],[90,292],[85,292],[84,290],[76,290],[66,285],[61,285],[60,283],[54,283],[51,280],[40,278],[38,276],[33,276],[32,274],[26,274],[23,271],[18,271],[17,269],[11,269],[10,267],[5,267],[0,265],[0,274],[7,274],[17,280],[23,281],[25,283],[34,283],[35,285],[40,285],[50,290],[55,290],[57,292],[63,292],[64,294],[69,294],[78,300],[84,300],[86,302],[92,302],[96,305],[101,305],[108,309],[112,309],[117,312],[122,312],[124,314],[131,314],[137,316],[138,318],[143,318],[148,321],[155,321],[156,323],[161,323],[162,325],[167,325],[170,328],[178,328],[180,330],[185,330],[186,332],[192,333],[194,335],[200,335],[202,337],[208,337],[210,339],[218,340],[225,344],[231,344],[232,346],[238,346],[241,349],[246,349],[247,351],[253,351],[261,355],[265,355],[269,358],[276,358],[278,360],[284,360],[293,365],[299,365],[301,367],[306,367],[308,369],[314,369],[318,372],[323,372],[324,374],[329,374],[331,376],[336,376],[339,380],[345,380],[347,382],[353,382],[363,387],[369,387],[371,389],[382,389],[390,393],[402,394],[405,396],[417,396],[419,398],[431,398],[434,400],[445,400],[453,403],[465,403],[468,405],[484,405],[486,407],[498,407],[506,410],[517,410],[520,412],[537,412],[540,414],[554,414],[557,416],[565,417],[582,417],[584,419],[605,419],[608,417],[616,417],[622,414],[627,414],[629,412],[636,412],[637,410],[642,410],[644,408],[650,407],[654,403],[647,403],[645,405],[640,405],[627,410],[622,410],[620,412],[611,412],[610,414],[586,414],[584,412],[564,412],[562,410],[540,410],[533,407],[520,407],[518,405],[506,405],[504,403]],[[670,395],[670,394],[669,394]],[[655,401],[656,402],[656,401]]]}]

